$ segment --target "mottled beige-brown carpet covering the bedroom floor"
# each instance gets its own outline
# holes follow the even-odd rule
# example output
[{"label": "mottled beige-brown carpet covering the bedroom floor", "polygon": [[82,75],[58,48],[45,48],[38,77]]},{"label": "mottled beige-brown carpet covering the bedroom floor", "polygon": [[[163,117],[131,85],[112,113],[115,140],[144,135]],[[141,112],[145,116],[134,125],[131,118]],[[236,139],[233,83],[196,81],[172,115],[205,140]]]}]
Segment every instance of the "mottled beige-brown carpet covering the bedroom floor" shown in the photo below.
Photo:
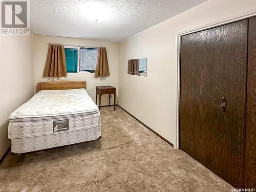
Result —
[{"label": "mottled beige-brown carpet covering the bedroom floor", "polygon": [[120,108],[101,108],[100,140],[11,156],[0,191],[231,191],[232,186]]}]

